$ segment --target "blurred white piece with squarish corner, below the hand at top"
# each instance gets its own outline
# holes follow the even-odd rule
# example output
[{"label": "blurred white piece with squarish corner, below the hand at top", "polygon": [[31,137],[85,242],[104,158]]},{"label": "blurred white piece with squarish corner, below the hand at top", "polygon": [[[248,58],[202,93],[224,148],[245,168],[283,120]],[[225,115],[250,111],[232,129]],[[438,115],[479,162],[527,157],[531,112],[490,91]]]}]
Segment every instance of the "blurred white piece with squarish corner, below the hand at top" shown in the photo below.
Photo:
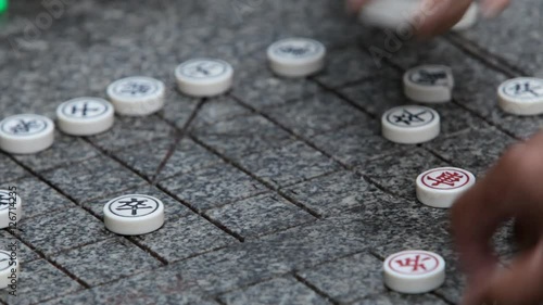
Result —
[{"label": "blurred white piece with squarish corner, below the hand at top", "polygon": [[404,74],[405,96],[415,102],[449,102],[453,88],[453,71],[444,65],[421,65]]}]

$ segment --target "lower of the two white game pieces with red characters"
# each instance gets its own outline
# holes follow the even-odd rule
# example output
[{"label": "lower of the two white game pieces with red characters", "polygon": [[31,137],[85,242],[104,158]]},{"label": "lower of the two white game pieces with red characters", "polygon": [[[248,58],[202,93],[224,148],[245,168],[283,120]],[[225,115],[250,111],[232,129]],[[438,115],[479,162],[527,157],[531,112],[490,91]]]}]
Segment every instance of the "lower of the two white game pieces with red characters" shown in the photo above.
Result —
[{"label": "lower of the two white game pieces with red characters", "polygon": [[400,293],[418,294],[438,289],[445,281],[445,260],[420,250],[402,251],[387,257],[384,284]]}]

